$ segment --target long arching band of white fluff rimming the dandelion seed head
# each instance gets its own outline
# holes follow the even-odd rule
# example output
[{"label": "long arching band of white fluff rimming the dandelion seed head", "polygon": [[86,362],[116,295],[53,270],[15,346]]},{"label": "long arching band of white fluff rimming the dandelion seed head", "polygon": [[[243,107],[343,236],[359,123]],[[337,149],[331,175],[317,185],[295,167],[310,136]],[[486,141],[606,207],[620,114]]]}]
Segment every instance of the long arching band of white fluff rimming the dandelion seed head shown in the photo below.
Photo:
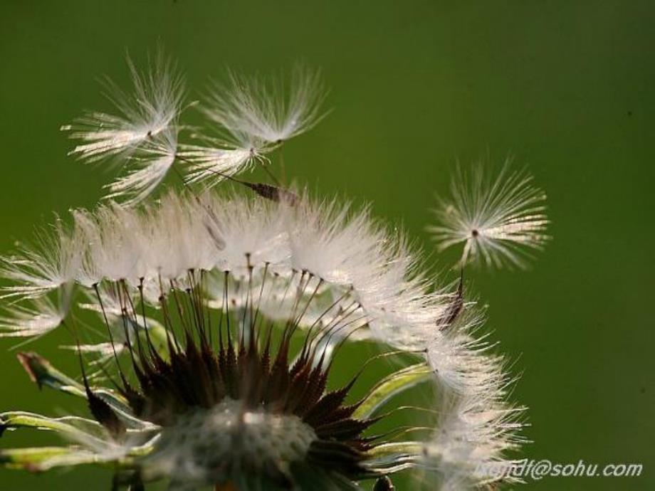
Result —
[{"label": "long arching band of white fluff rimming the dandelion seed head", "polygon": [[[125,282],[134,291],[142,288],[156,305],[163,292],[183,290],[189,278],[200,278],[192,272],[204,272],[210,307],[223,305],[228,278],[233,307],[247,297],[239,288],[250,288],[248,295],[263,299],[259,309],[271,319],[288,317],[293,295],[285,292],[304,286],[314,301],[298,324],[311,327],[322,320],[329,326],[330,317],[340,315],[341,332],[335,332],[340,338],[356,328],[359,338],[426,350],[444,394],[439,429],[426,443],[426,465],[439,469],[444,486],[452,480],[461,489],[462,483],[477,485],[483,476],[472,470],[501,460],[514,447],[519,411],[504,402],[503,359],[473,336],[480,318],[465,316],[438,329],[452,295],[429,290],[407,241],[373,221],[367,209],[355,212],[307,197],[288,204],[209,192],[168,194],[137,208],[108,204],[75,211],[73,217],[73,226],[60,223],[42,241],[48,247],[23,249],[4,261],[5,277],[18,282],[4,287],[4,295],[31,305],[14,312],[14,320],[4,320],[9,334],[43,334],[57,327],[66,312],[53,312],[48,292],[70,297],[73,285],[93,291],[107,280]],[[264,287],[267,277],[272,280]],[[105,315],[120,316],[110,295],[101,297]],[[120,341],[120,329],[117,337]],[[94,349],[110,354],[106,343],[83,347]]]}]

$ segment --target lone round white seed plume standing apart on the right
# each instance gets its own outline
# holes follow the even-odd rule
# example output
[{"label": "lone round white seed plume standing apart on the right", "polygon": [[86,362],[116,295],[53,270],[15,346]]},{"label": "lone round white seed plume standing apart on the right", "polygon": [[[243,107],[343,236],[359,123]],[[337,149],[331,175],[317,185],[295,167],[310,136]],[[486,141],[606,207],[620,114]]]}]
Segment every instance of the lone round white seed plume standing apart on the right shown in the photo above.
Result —
[{"label": "lone round white seed plume standing apart on the right", "polygon": [[532,181],[525,171],[511,172],[509,162],[494,180],[482,169],[460,172],[451,199],[436,211],[439,225],[429,227],[439,250],[463,243],[462,266],[476,261],[525,268],[530,250],[540,250],[549,239],[546,195]]}]

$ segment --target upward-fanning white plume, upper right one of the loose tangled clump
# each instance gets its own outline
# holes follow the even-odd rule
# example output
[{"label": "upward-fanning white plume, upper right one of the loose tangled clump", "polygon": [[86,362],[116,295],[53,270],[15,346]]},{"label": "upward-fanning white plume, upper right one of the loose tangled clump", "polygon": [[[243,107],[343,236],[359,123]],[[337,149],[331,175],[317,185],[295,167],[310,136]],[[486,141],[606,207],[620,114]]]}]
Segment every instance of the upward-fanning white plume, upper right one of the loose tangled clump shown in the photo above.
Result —
[{"label": "upward-fanning white plume, upper right one of the loose tangled clump", "polygon": [[288,84],[230,73],[203,112],[237,142],[248,137],[278,144],[313,128],[323,117],[324,98],[320,73],[297,65]]}]

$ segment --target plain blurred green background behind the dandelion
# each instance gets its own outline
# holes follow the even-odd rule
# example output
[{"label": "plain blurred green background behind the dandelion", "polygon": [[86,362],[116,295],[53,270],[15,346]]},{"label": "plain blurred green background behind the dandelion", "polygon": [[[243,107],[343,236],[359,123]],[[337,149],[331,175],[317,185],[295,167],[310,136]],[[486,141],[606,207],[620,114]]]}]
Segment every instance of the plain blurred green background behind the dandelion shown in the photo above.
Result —
[{"label": "plain blurred green background behind the dandelion", "polygon": [[[550,199],[555,241],[528,273],[471,288],[522,373],[529,458],[643,463],[640,478],[550,478],[529,490],[655,489],[652,1],[10,1],[0,5],[0,250],[51,211],[93,206],[110,175],[66,157],[58,127],[107,109],[96,78],[127,80],[157,43],[192,91],[229,66],[303,60],[333,110],[285,147],[289,173],[370,201],[423,243],[456,162],[511,154]],[[456,253],[431,255],[448,271]],[[449,273],[450,274],[450,273]],[[56,347],[31,345],[77,373]],[[58,413],[0,342],[0,411]],[[6,435],[0,446],[46,441]],[[0,471],[1,490],[108,489],[95,470]],[[406,491],[409,488],[401,489]]]}]

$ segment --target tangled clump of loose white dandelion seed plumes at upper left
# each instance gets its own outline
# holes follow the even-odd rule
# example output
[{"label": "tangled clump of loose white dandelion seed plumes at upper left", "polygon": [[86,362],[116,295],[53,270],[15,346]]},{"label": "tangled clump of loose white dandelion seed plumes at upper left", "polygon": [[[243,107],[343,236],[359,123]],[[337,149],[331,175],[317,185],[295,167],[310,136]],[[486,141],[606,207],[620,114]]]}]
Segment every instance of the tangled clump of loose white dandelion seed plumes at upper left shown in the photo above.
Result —
[{"label": "tangled clump of loose white dandelion seed plumes at upper left", "polygon": [[[157,56],[152,71],[141,73],[128,58],[134,93],[107,81],[108,98],[117,115],[90,112],[73,125],[63,125],[70,138],[81,140],[70,154],[97,162],[116,157],[126,174],[105,186],[109,199],[133,205],[152,194],[179,162],[186,184],[212,187],[256,164],[268,164],[266,155],[287,139],[314,127],[323,114],[325,98],[320,74],[299,66],[290,83],[248,79],[230,73],[229,84],[216,87],[200,110],[218,125],[221,137],[192,134],[201,144],[179,142],[184,80]],[[195,103],[193,105],[196,105]]]}]

